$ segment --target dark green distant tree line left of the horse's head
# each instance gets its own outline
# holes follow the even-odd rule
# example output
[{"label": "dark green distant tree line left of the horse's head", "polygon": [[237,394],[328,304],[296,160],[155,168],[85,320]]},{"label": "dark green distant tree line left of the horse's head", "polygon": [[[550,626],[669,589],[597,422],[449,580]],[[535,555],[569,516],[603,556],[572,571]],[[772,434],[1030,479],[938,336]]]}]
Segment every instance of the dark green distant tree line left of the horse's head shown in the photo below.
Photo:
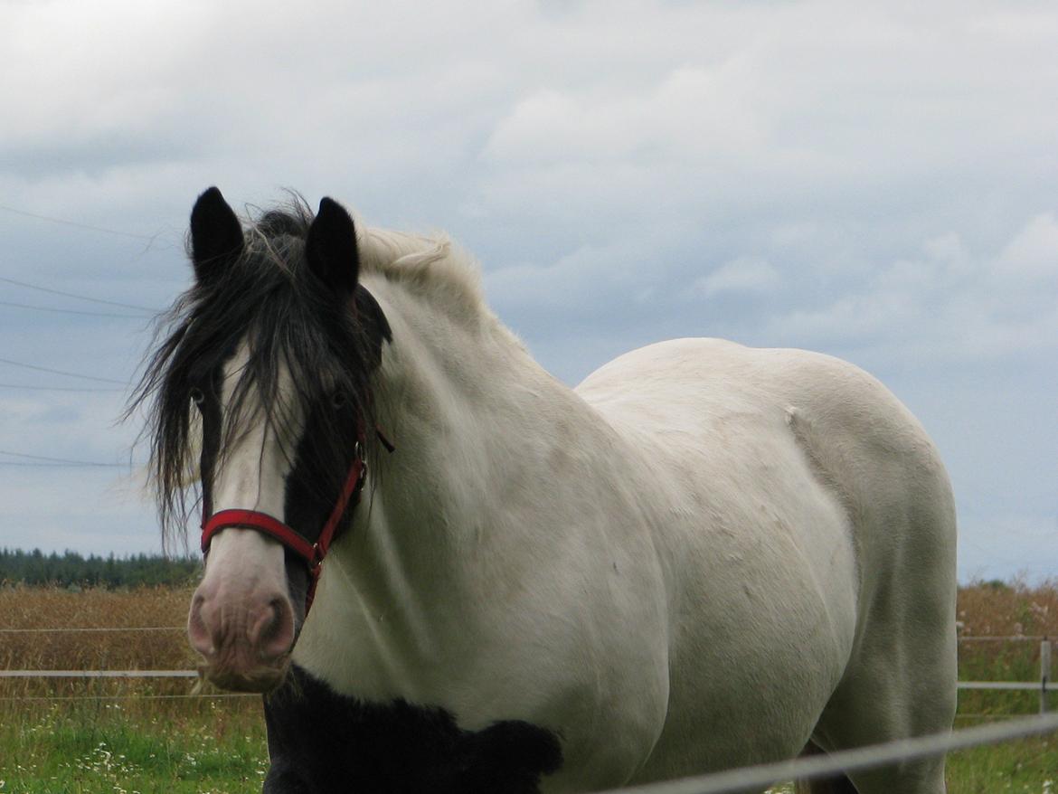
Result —
[{"label": "dark green distant tree line left of the horse's head", "polygon": [[195,581],[202,570],[197,559],[161,555],[81,557],[75,552],[44,554],[0,549],[0,584],[51,584],[83,588],[181,585]]}]

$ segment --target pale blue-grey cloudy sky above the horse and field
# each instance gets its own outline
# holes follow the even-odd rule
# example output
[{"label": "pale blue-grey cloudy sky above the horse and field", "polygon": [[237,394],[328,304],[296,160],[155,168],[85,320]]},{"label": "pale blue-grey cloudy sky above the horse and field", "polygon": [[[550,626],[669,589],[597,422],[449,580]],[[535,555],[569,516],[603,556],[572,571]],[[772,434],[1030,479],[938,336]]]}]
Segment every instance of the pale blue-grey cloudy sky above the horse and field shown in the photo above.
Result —
[{"label": "pale blue-grey cloudy sky above the horse and field", "polygon": [[851,360],[938,444],[961,578],[1058,576],[1056,42],[1024,0],[0,1],[0,546],[160,548],[116,417],[217,184],[448,230],[570,384]]}]

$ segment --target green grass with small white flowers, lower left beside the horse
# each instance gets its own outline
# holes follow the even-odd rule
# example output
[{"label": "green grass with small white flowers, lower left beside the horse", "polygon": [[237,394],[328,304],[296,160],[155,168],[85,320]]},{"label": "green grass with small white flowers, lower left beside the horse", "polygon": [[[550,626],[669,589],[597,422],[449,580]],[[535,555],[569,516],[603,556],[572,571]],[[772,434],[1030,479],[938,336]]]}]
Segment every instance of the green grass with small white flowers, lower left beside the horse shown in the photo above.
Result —
[{"label": "green grass with small white flowers, lower left beside the horse", "polygon": [[0,793],[241,794],[268,770],[245,700],[4,703]]}]

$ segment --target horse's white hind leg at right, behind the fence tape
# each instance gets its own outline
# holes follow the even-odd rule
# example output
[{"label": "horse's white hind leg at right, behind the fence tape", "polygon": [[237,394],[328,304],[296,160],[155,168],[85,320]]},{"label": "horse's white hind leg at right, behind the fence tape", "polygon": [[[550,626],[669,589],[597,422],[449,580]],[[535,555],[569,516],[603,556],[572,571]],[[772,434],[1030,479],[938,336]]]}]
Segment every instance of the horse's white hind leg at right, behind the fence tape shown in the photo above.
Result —
[{"label": "horse's white hind leg at right, behind the fence tape", "polygon": [[[953,578],[878,583],[859,648],[813,741],[834,752],[951,728],[955,714]],[[948,591],[951,591],[950,593]],[[855,772],[859,794],[944,794],[944,757]],[[825,790],[824,790],[825,791]]]}]

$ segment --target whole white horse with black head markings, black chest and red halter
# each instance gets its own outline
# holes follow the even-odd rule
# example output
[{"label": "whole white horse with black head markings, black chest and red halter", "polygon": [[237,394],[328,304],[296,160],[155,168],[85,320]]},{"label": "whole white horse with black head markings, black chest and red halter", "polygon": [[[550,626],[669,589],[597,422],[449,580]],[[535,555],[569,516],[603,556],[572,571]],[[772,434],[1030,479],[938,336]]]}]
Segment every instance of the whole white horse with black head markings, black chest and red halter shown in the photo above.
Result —
[{"label": "whole white horse with black head markings, black chest and red halter", "polygon": [[[211,188],[190,255],[143,394],[167,520],[201,475],[204,674],[269,692],[267,792],[587,792],[950,728],[951,490],[871,376],[680,339],[569,389],[467,256],[329,199],[243,228]],[[849,778],[937,794],[944,759]]]}]

